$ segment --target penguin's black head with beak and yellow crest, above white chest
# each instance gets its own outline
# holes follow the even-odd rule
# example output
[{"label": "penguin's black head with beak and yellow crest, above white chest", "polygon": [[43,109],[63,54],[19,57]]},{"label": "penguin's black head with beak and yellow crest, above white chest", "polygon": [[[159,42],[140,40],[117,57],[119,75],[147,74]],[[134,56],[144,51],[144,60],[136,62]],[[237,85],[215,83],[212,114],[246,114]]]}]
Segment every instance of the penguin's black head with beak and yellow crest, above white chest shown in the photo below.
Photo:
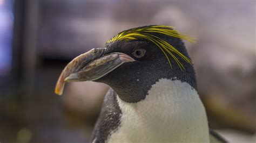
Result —
[{"label": "penguin's black head with beak and yellow crest, above white chest", "polygon": [[65,82],[103,82],[124,102],[137,103],[162,78],[187,82],[196,89],[196,76],[182,39],[193,41],[170,26],[120,32],[104,48],[73,59],[60,74],[55,92],[61,95]]}]

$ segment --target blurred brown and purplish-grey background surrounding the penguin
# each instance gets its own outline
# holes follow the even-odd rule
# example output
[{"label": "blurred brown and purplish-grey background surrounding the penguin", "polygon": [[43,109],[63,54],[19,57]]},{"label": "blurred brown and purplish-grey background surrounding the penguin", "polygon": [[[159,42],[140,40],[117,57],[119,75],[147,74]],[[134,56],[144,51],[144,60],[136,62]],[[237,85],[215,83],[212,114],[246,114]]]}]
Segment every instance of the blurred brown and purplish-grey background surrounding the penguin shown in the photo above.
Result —
[{"label": "blurred brown and purplish-grey background surrounding the penguin", "polygon": [[120,31],[170,25],[197,71],[209,124],[230,142],[256,142],[254,0],[0,0],[0,142],[88,142],[108,86],[69,83],[65,65]]}]

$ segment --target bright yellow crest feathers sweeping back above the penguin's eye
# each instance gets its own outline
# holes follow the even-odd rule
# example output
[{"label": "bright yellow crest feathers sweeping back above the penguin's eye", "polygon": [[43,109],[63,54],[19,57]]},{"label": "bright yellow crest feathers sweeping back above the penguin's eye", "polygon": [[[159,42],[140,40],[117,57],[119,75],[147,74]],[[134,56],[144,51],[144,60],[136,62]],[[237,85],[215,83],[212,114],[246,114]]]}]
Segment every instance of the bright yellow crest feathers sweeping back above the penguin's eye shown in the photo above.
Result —
[{"label": "bright yellow crest feathers sweeping back above the penguin's eye", "polygon": [[196,40],[186,34],[182,34],[179,31],[173,30],[174,27],[172,26],[164,26],[164,25],[153,25],[153,26],[145,26],[145,27],[137,27],[132,28],[130,30],[125,30],[123,32],[118,33],[116,36],[111,38],[107,41],[107,44],[111,44],[118,40],[138,40],[138,39],[145,39],[148,41],[153,42],[156,44],[161,51],[166,56],[171,68],[171,61],[169,59],[169,56],[167,54],[171,55],[172,58],[176,61],[177,65],[180,67],[181,70],[185,69],[184,66],[181,64],[181,62],[178,60],[178,58],[173,54],[176,53],[179,55],[183,60],[185,60],[187,63],[192,63],[189,58],[187,58],[184,54],[180,53],[176,48],[174,48],[172,45],[170,45],[165,40],[159,38],[155,34],[163,34],[170,37],[180,38],[184,39],[190,42],[196,42]]}]

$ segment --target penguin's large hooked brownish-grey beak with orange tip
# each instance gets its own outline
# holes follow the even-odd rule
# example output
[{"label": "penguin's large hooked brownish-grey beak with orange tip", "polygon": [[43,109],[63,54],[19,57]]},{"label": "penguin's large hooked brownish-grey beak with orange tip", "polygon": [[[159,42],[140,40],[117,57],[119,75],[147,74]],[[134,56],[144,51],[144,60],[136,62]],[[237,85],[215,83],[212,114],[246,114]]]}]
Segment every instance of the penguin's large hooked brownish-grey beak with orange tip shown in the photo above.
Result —
[{"label": "penguin's large hooked brownish-grey beak with orange tip", "polygon": [[65,82],[95,81],[123,63],[135,61],[124,53],[104,53],[105,48],[91,49],[69,62],[58,78],[55,93],[62,95]]}]

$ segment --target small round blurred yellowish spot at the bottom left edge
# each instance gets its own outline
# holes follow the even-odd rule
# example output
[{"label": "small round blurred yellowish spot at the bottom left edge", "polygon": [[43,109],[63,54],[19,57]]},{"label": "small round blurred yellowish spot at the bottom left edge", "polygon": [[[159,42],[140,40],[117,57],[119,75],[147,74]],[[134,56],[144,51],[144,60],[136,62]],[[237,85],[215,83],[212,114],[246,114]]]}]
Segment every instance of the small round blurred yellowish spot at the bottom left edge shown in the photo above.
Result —
[{"label": "small round blurred yellowish spot at the bottom left edge", "polygon": [[22,128],[17,133],[17,143],[28,143],[32,138],[32,132],[28,128]]}]

